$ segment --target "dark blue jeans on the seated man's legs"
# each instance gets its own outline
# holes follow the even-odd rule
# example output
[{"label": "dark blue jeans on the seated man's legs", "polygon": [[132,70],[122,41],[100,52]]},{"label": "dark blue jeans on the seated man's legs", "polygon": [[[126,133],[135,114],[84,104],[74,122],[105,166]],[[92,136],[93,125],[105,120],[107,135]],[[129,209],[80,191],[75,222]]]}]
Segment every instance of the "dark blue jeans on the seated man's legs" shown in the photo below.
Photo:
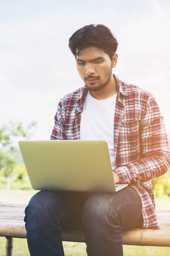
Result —
[{"label": "dark blue jeans on the seated man's legs", "polygon": [[142,225],[142,203],[130,186],[116,193],[40,191],[26,207],[31,256],[64,256],[62,230],[82,229],[88,256],[122,256],[121,231]]}]

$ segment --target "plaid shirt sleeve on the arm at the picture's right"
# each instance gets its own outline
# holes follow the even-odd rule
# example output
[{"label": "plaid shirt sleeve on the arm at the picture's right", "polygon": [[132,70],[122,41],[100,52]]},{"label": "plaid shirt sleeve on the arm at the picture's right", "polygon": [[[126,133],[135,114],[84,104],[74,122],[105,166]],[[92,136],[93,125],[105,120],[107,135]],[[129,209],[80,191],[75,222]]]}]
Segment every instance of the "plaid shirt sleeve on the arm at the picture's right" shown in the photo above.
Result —
[{"label": "plaid shirt sleeve on the arm at the picture's right", "polygon": [[141,159],[114,170],[122,183],[141,184],[163,175],[169,169],[170,150],[166,128],[152,95],[141,116],[139,137]]}]

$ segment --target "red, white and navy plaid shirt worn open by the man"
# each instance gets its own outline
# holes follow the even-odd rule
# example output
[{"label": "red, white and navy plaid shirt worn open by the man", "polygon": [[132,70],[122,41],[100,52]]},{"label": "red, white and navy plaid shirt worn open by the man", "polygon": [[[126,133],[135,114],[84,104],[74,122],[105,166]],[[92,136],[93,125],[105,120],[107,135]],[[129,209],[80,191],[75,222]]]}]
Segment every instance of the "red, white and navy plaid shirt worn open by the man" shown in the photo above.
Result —
[{"label": "red, white and navy plaid shirt worn open by the man", "polygon": [[[115,76],[115,75],[114,75]],[[114,171],[130,182],[142,200],[144,228],[160,227],[150,180],[166,173],[170,150],[163,116],[153,95],[116,77],[118,94],[114,117]],[[80,139],[80,121],[87,88],[67,94],[58,105],[51,139]]]}]

